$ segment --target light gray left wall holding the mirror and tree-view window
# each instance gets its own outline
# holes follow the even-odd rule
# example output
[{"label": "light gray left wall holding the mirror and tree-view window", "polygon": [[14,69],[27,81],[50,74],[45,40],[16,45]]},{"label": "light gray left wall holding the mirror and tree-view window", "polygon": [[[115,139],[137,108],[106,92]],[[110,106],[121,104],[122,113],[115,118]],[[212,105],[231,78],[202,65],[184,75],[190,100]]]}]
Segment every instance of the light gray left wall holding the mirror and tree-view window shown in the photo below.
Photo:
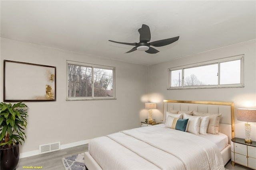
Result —
[{"label": "light gray left wall holding the mirror and tree-view window", "polygon": [[[25,102],[29,107],[27,139],[20,152],[28,152],[27,156],[38,153],[39,145],[60,141],[63,147],[70,147],[140,126],[147,66],[1,38],[1,102],[3,60],[56,66],[56,102]],[[66,101],[66,60],[116,67],[117,100]]]}]

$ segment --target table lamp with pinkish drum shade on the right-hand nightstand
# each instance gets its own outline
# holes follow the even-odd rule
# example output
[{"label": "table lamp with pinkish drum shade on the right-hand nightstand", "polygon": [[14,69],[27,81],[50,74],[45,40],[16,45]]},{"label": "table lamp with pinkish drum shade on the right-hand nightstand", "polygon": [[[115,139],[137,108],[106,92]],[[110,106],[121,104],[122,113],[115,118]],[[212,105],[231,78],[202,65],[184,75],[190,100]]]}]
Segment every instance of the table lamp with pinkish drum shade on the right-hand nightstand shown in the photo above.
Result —
[{"label": "table lamp with pinkish drum shade on the right-hand nightstand", "polygon": [[237,119],[245,121],[245,139],[244,142],[252,143],[251,140],[251,125],[248,122],[256,122],[256,109],[237,109]]}]

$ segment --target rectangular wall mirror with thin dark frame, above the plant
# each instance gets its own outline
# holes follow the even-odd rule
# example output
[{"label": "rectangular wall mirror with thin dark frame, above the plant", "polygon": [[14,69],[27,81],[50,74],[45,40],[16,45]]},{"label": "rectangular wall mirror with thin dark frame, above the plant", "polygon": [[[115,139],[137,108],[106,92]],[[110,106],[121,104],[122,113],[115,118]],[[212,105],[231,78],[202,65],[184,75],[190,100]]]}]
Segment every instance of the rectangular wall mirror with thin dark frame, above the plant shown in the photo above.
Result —
[{"label": "rectangular wall mirror with thin dark frame, above the plant", "polygon": [[[22,64],[22,65],[21,65]],[[25,65],[24,65],[25,64]],[[45,67],[45,68],[36,68],[36,67]],[[28,68],[28,70],[24,69]],[[38,71],[38,70],[44,70]],[[54,71],[53,71],[54,70]],[[25,71],[25,72],[23,72]],[[21,79],[22,76],[26,76],[26,74],[29,74],[29,77],[32,82],[32,84],[28,81],[18,82],[17,84],[12,83],[12,89],[8,90],[6,89],[6,85],[8,85],[8,80],[10,78],[17,78],[17,76],[20,76],[19,79]],[[41,77],[38,77],[38,75],[41,75]],[[43,80],[41,81],[40,78]],[[26,79],[26,78],[24,78]],[[14,80],[15,81],[15,80]],[[44,82],[44,84],[42,84]],[[40,84],[39,84],[40,83]],[[49,85],[50,84],[50,85]],[[52,90],[52,87],[54,86],[54,89]],[[45,87],[45,88],[42,88]],[[35,89],[40,91],[40,94],[35,94],[33,97],[17,97],[8,95],[13,93],[15,90],[24,90],[24,94],[29,94],[29,89]],[[41,93],[42,91],[42,93]],[[7,97],[8,96],[8,97]],[[49,102],[49,101],[56,101],[56,67],[55,66],[47,66],[42,64],[33,64],[33,63],[24,63],[24,62],[18,62],[18,61],[10,61],[10,60],[4,60],[4,102],[27,102],[27,101],[33,101],[33,102]]]}]

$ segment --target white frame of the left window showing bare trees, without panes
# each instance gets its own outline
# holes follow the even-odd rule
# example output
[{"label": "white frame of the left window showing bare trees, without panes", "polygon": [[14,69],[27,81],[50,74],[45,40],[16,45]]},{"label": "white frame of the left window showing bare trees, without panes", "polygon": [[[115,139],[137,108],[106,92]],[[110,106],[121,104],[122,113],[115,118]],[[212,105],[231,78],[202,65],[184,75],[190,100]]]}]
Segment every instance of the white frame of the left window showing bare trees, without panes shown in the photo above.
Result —
[{"label": "white frame of the left window showing bare trees, without panes", "polygon": [[[91,67],[92,68],[92,96],[90,97],[69,97],[68,96],[68,64],[74,64],[79,66]],[[94,68],[113,70],[113,96],[110,97],[95,97],[94,96]],[[73,100],[115,100],[116,99],[116,67],[103,66],[98,64],[89,64],[76,61],[66,61],[66,101]]]}]

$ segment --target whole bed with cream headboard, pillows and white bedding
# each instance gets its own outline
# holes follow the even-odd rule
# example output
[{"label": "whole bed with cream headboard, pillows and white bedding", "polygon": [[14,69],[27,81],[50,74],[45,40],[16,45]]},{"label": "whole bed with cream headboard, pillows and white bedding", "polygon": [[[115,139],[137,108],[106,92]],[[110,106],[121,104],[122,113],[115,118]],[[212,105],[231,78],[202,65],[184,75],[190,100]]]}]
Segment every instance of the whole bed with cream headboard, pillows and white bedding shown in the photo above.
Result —
[{"label": "whole bed with cream headboard, pillows and white bedding", "polygon": [[225,169],[234,137],[233,102],[164,100],[163,122],[90,140],[86,169]]}]

